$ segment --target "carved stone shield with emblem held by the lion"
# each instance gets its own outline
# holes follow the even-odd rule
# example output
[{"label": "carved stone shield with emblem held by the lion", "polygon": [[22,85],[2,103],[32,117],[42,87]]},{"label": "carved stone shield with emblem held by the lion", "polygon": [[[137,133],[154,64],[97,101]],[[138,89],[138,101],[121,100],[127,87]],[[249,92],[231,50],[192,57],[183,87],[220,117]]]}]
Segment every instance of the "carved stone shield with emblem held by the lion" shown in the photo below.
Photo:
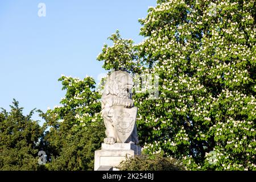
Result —
[{"label": "carved stone shield with emblem held by the lion", "polygon": [[113,106],[113,122],[117,137],[122,143],[133,133],[137,118],[137,107]]}]

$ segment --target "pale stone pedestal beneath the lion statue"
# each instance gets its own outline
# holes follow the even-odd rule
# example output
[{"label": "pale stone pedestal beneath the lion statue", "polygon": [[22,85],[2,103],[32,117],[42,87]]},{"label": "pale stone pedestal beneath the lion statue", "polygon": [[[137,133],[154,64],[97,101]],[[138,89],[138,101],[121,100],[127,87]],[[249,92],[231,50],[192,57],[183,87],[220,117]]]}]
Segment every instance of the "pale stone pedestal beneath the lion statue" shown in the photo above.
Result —
[{"label": "pale stone pedestal beneath the lion statue", "polygon": [[[107,166],[117,167],[126,157],[141,155],[141,147],[131,143],[101,144],[101,150],[94,152],[94,171],[104,170]],[[104,167],[104,168],[103,168]]]}]

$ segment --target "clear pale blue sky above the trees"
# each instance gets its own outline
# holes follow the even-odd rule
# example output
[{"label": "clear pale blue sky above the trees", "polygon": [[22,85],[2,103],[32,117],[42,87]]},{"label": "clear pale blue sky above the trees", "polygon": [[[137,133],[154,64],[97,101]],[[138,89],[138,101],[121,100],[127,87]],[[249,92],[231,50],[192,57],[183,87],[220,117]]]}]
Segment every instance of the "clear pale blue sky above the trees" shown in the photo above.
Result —
[{"label": "clear pale blue sky above the trees", "polygon": [[[38,4],[46,16],[38,16]],[[59,105],[65,92],[61,74],[96,78],[106,71],[96,60],[117,29],[135,43],[139,18],[156,0],[23,0],[0,1],[0,107],[10,110],[13,98],[30,110]],[[37,115],[33,119],[40,119]],[[42,120],[42,119],[41,119]]]}]

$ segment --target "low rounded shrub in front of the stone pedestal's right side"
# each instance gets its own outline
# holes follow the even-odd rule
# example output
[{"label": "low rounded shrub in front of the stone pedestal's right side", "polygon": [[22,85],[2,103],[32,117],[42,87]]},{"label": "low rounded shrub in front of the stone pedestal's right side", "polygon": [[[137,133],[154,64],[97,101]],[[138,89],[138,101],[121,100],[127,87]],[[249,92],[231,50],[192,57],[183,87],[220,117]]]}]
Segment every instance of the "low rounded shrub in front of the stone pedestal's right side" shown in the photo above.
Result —
[{"label": "low rounded shrub in front of the stone pedestal's right side", "polygon": [[185,170],[182,163],[162,155],[137,155],[127,158],[118,169],[121,171],[180,171]]}]

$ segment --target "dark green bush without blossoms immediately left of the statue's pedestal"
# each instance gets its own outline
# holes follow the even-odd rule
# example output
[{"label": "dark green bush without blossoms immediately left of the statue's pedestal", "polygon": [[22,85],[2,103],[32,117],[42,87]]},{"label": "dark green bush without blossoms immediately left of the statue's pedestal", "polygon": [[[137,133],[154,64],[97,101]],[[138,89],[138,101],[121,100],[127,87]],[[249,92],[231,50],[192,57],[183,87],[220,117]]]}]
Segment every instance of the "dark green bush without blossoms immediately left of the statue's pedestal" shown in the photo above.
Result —
[{"label": "dark green bush without blossoms immediately left of the statue's pedestal", "polygon": [[104,139],[103,122],[93,125],[74,126],[68,128],[67,123],[61,123],[60,129],[53,129],[46,134],[45,140],[51,150],[49,170],[93,170],[94,151],[101,147]]}]

